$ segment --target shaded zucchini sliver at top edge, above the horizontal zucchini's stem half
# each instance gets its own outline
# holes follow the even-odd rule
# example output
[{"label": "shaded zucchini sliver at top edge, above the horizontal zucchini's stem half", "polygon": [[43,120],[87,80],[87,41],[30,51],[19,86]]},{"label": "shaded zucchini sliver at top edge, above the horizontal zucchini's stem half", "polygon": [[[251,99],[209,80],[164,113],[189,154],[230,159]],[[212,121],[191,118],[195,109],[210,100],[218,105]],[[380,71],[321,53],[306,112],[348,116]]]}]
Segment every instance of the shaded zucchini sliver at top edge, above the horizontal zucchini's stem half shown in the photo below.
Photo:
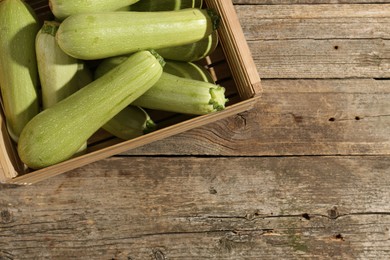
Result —
[{"label": "shaded zucchini sliver at top edge, above the horizontal zucchini's stem half", "polygon": [[201,8],[202,0],[141,0],[129,6],[129,10],[138,12],[171,11],[185,8]]}]

